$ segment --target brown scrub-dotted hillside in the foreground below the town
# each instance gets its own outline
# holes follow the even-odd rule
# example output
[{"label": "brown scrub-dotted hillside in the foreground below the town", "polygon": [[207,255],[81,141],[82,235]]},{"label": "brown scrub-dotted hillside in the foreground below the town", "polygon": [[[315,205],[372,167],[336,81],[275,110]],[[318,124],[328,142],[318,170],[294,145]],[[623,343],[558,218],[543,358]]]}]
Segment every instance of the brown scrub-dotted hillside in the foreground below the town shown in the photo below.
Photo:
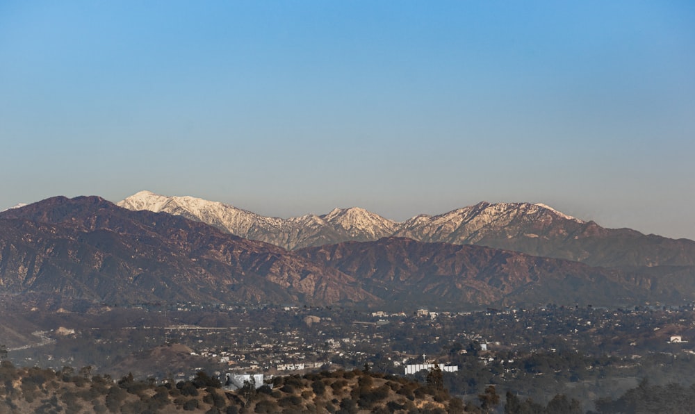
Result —
[{"label": "brown scrub-dotted hillside in the foreground below the town", "polygon": [[[16,384],[16,386],[15,386]],[[359,370],[275,377],[270,385],[229,391],[205,372],[179,383],[92,376],[89,367],[0,365],[0,413],[464,413],[441,386]]]}]

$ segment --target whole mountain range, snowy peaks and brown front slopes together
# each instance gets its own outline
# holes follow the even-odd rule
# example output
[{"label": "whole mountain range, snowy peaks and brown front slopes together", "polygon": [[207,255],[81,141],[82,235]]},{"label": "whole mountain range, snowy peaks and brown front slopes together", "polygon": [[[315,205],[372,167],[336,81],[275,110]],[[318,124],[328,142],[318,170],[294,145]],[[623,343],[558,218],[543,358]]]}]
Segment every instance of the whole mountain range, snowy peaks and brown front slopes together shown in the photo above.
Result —
[{"label": "whole mountain range, snowy peaks and brown front slopes together", "polygon": [[695,242],[603,229],[542,204],[402,223],[360,208],[285,220],[150,192],[119,204],[128,208],[53,197],[0,213],[0,292],[452,309],[695,299]]}]

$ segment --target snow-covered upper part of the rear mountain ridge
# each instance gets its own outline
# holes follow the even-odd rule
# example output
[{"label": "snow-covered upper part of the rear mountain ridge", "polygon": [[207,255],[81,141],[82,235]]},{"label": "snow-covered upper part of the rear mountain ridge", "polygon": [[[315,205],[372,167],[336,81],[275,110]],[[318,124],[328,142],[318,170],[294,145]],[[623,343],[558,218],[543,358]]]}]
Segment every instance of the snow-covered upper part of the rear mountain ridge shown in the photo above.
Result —
[{"label": "snow-covered upper part of the rear mountain ridge", "polygon": [[234,235],[261,240],[297,249],[325,245],[347,240],[378,240],[400,236],[428,242],[475,243],[488,234],[515,237],[529,232],[525,226],[539,221],[539,225],[563,225],[553,217],[562,217],[575,223],[581,220],[559,213],[545,204],[489,203],[458,208],[441,215],[417,215],[406,222],[395,222],[364,208],[334,208],[325,215],[308,214],[281,219],[265,217],[218,201],[197,197],[165,197],[150,191],[140,191],[118,203],[131,210],[151,210],[183,215],[189,219],[211,224]]}]

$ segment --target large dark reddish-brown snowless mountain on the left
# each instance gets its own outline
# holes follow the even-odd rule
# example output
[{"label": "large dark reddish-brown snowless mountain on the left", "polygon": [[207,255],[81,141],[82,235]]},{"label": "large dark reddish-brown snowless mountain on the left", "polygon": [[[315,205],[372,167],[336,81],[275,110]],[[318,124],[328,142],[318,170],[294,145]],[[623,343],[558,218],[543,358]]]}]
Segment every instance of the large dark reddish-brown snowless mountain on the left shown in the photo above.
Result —
[{"label": "large dark reddish-brown snowless mountain on the left", "polygon": [[2,292],[137,303],[357,303],[347,276],[263,242],[99,197],[54,197],[0,213]]}]

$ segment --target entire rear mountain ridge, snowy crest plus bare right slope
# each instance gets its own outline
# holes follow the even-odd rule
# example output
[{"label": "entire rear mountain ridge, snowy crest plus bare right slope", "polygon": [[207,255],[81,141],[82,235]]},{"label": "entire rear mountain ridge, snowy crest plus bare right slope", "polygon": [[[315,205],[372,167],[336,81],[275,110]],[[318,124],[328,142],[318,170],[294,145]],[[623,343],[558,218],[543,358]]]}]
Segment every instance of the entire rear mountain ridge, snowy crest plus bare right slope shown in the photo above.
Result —
[{"label": "entire rear mountain ridge, snowy crest plus bare right slope", "polygon": [[393,222],[361,208],[287,220],[263,217],[214,201],[138,192],[119,203],[131,210],[165,211],[218,226],[240,237],[300,249],[345,241],[407,237],[421,242],[480,245],[534,256],[576,260],[592,266],[695,265],[695,242],[605,229],[544,204],[482,202],[442,215]]}]

